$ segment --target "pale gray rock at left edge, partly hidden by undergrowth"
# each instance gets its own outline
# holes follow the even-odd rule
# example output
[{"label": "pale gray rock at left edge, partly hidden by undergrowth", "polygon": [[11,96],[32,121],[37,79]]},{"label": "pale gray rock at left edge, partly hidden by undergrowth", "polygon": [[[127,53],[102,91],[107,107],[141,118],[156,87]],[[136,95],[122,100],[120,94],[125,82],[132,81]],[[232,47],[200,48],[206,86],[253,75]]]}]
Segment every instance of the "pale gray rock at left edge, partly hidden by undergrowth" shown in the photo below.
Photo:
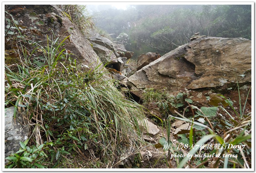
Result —
[{"label": "pale gray rock at left edge, partly hidden by undergrowth", "polygon": [[22,115],[16,116],[14,123],[14,106],[5,110],[4,117],[4,138],[5,138],[5,157],[19,151],[19,142],[27,140],[29,135],[28,125],[24,125]]}]

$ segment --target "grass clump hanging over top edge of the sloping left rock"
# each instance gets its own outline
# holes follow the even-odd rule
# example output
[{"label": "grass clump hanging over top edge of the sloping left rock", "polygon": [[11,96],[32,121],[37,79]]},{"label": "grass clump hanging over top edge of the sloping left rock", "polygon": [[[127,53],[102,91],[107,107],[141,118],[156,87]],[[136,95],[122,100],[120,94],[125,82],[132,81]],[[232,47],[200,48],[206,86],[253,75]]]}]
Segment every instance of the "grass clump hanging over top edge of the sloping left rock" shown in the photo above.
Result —
[{"label": "grass clump hanging over top edge of the sloping left rock", "polygon": [[79,26],[83,34],[89,34],[88,29],[94,28],[93,17],[89,14],[86,5],[59,5],[59,7]]}]

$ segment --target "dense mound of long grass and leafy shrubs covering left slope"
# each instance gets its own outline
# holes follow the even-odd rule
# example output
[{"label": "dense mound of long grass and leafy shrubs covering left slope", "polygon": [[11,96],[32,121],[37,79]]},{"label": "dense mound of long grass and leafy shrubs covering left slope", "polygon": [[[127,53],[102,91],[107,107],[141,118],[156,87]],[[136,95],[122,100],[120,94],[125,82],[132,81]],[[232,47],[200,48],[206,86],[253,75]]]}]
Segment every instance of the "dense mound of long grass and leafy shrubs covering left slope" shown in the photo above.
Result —
[{"label": "dense mound of long grass and leafy shrubs covering left slope", "polygon": [[[115,87],[108,73],[80,69],[64,41],[11,36],[19,64],[5,65],[5,107],[25,112],[31,133],[6,168],[71,168],[80,155],[112,165],[125,149],[140,147],[143,110]],[[30,53],[27,53],[30,52]]]}]

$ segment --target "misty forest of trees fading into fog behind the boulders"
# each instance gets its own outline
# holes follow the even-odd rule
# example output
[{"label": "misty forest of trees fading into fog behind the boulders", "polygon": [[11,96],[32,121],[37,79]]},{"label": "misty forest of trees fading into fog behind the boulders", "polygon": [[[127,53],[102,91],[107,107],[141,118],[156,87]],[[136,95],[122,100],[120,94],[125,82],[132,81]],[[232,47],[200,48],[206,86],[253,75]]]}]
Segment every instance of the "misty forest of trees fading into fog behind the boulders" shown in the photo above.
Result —
[{"label": "misty forest of trees fading into fog behind the boulders", "polygon": [[97,32],[133,51],[161,55],[188,43],[191,36],[243,37],[251,40],[250,5],[88,5]]}]

